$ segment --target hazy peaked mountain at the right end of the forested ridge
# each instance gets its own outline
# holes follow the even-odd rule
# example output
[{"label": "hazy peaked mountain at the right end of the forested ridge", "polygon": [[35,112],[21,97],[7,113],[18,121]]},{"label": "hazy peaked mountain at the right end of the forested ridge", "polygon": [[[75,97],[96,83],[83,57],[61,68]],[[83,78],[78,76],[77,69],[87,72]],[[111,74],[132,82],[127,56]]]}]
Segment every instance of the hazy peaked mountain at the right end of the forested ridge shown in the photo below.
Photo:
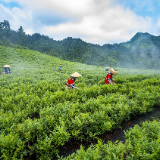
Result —
[{"label": "hazy peaked mountain at the right end of the forested ridge", "polygon": [[149,33],[136,33],[130,41],[120,43],[128,48],[137,62],[143,62],[147,68],[159,68],[160,60],[160,36],[153,36]]}]

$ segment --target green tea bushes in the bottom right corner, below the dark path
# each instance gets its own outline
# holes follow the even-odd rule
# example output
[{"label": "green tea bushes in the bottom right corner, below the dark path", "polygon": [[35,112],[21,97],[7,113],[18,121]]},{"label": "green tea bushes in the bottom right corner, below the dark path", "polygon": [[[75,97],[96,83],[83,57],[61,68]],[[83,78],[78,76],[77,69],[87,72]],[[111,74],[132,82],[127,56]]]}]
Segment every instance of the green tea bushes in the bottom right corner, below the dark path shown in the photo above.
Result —
[{"label": "green tea bushes in the bottom right corner, below the dark path", "polygon": [[116,141],[103,144],[98,141],[85,150],[80,147],[76,153],[68,157],[60,157],[61,160],[133,160],[133,159],[159,159],[160,154],[160,122],[144,122],[142,126],[136,125],[125,133],[125,143]]}]

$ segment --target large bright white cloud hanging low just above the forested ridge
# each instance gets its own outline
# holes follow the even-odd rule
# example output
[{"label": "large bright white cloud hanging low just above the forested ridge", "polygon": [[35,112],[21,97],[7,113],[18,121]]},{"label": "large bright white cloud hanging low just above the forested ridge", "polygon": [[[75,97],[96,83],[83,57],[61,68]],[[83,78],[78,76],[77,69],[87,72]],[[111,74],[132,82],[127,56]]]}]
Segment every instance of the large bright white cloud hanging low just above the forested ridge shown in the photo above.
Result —
[{"label": "large bright white cloud hanging low just above the forested ridge", "polygon": [[[103,9],[99,14],[84,15],[77,22],[44,28],[44,31],[58,37],[59,34],[76,37],[97,44],[129,40],[138,31],[150,27],[151,20],[136,16],[120,6]],[[54,36],[53,36],[54,37]],[[77,37],[79,38],[79,37]]]}]

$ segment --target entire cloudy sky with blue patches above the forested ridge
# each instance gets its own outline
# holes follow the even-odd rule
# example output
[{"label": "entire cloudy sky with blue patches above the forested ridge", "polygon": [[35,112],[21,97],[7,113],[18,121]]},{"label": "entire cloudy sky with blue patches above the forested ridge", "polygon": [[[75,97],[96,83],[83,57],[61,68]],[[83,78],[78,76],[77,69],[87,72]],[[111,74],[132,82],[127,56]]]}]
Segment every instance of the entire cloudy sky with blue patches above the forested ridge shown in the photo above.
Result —
[{"label": "entire cloudy sky with blue patches above the forested ridge", "polygon": [[0,22],[54,40],[93,44],[129,41],[137,32],[160,35],[160,0],[0,0]]}]

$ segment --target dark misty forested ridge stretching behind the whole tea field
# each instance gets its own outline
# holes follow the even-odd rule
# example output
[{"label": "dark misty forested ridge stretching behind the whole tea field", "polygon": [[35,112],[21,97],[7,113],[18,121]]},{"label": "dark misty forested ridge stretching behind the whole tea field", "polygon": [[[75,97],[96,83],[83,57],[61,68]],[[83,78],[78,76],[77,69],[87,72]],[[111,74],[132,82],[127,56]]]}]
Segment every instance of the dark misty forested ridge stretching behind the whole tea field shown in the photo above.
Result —
[{"label": "dark misty forested ridge stretching behind the whole tea field", "polygon": [[160,68],[160,36],[149,33],[137,33],[128,42],[100,46],[79,38],[56,41],[39,33],[27,35],[22,26],[14,31],[4,20],[0,22],[0,45],[27,47],[60,59],[92,65]]}]

